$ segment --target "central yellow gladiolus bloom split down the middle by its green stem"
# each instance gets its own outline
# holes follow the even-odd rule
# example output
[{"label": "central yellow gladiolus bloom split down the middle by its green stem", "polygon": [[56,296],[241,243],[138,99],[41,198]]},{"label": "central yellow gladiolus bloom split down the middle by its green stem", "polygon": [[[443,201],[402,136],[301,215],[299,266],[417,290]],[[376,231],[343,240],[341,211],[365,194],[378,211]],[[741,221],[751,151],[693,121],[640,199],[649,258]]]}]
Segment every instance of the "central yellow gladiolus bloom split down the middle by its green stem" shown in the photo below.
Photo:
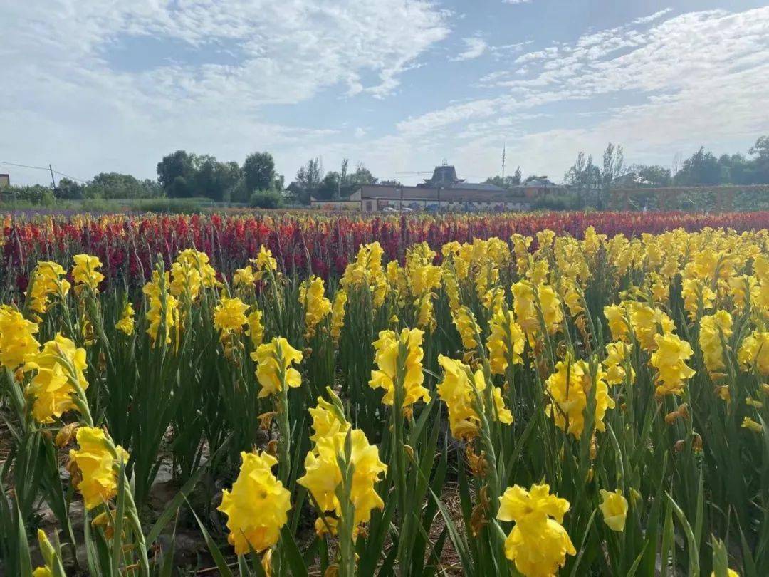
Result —
[{"label": "central yellow gladiolus bloom split down the middle by its green stem", "polygon": [[[382,402],[392,405],[395,401],[395,386],[403,388],[403,407],[408,408],[421,399],[430,402],[428,389],[422,386],[422,337],[420,329],[403,329],[398,335],[394,331],[381,331],[374,342],[374,362],[378,369],[371,371],[368,385],[371,389],[384,389]],[[403,367],[403,382],[398,379],[398,364]]]}]

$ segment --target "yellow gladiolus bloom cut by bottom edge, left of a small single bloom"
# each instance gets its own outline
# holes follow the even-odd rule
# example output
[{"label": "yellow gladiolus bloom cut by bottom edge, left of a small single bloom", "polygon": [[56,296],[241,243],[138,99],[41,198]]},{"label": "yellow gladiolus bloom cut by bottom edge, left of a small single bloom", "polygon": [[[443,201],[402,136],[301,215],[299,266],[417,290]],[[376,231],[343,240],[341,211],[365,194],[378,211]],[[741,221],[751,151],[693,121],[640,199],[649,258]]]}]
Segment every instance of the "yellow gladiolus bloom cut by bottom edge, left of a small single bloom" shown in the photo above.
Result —
[{"label": "yellow gladiolus bloom cut by bottom edge, left of a small single bloom", "polygon": [[514,485],[499,502],[497,519],[515,525],[504,541],[504,555],[526,577],[552,577],[577,551],[564,529],[569,502],[550,494],[549,485]]}]

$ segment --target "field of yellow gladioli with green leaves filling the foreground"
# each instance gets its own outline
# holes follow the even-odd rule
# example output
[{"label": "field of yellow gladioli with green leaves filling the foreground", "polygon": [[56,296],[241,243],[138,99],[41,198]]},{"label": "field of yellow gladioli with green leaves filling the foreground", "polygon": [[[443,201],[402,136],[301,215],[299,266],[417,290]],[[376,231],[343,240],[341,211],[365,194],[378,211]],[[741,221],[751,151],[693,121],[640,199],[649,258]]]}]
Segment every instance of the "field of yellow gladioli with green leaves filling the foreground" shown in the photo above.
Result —
[{"label": "field of yellow gladioli with green leaves filling the foreground", "polygon": [[7,293],[5,575],[769,575],[767,230],[252,256]]}]

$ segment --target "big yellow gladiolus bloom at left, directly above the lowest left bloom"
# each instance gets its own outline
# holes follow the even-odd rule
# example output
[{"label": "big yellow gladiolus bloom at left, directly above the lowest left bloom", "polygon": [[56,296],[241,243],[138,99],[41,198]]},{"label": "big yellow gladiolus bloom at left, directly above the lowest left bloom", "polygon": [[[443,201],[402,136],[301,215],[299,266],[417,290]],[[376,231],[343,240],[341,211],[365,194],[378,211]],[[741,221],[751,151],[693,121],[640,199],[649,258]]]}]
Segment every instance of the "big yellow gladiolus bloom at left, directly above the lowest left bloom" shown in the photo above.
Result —
[{"label": "big yellow gladiolus bloom at left, directly above the lowest left bloom", "polygon": [[76,393],[75,385],[64,362],[69,362],[75,369],[80,388],[88,389],[88,381],[83,374],[86,368],[85,349],[78,349],[61,333],[46,342],[42,351],[28,359],[24,366],[25,371],[37,371],[26,391],[28,397],[35,399],[32,416],[37,422],[54,422],[54,417],[61,417],[63,412],[75,409],[72,400],[72,395]]}]

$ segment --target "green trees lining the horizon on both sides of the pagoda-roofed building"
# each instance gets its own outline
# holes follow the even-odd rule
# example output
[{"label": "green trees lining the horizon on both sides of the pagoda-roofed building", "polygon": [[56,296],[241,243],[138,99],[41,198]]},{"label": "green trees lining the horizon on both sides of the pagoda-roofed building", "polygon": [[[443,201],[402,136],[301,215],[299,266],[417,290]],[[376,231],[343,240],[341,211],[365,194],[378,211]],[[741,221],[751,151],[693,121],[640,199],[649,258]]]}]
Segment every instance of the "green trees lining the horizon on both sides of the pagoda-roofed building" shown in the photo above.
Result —
[{"label": "green trees lining the horizon on both sides of the pagoda-roofed building", "polygon": [[[671,167],[661,165],[626,165],[620,145],[609,143],[601,160],[579,152],[574,164],[564,174],[563,182],[576,192],[578,202],[604,205],[611,188],[657,188],[694,185],[753,185],[769,184],[769,136],[761,136],[748,151],[716,157],[700,148],[691,157],[674,158]],[[338,170],[324,172],[320,158],[311,158],[299,168],[288,188],[284,178],[275,171],[275,160],[269,152],[254,152],[238,162],[221,162],[212,155],[198,155],[178,150],[165,155],[157,165],[158,179],[139,180],[132,175],[102,172],[88,182],[62,178],[55,196],[64,199],[81,198],[211,198],[216,202],[251,202],[254,205],[275,206],[285,198],[308,204],[310,198],[335,200],[348,198],[361,185],[389,184],[379,181],[362,163],[351,170],[345,158]],[[545,176],[523,178],[519,166],[512,175],[492,176],[485,182],[508,190],[514,186]],[[41,185],[12,187],[15,198],[42,202],[45,191]],[[258,194],[257,194],[258,193]]]}]

